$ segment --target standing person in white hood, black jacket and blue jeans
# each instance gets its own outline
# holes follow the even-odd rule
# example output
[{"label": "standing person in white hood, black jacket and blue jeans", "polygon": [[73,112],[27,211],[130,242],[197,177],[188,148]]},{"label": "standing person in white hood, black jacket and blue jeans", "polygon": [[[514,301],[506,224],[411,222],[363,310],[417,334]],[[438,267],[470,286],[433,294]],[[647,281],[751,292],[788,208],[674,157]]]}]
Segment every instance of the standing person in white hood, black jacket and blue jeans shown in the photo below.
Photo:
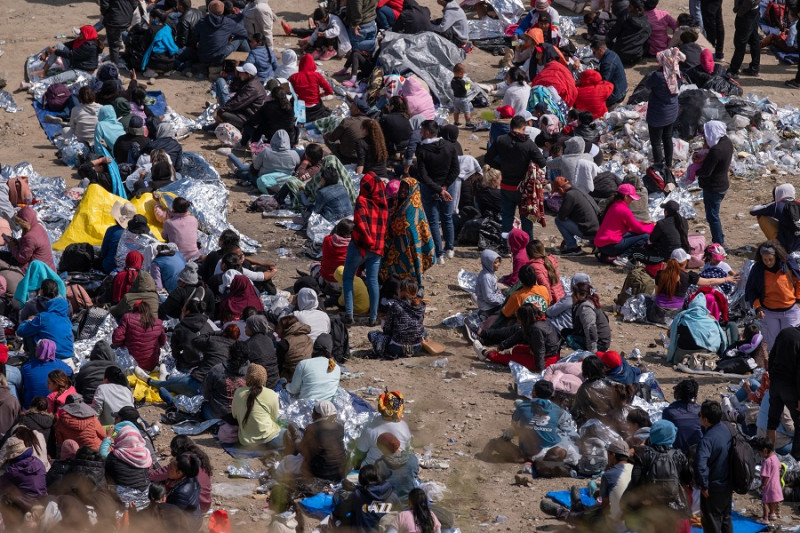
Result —
[{"label": "standing person in white hood, black jacket and blue jeans", "polygon": [[725,246],[725,234],[719,219],[719,206],[728,192],[728,170],[733,157],[733,143],[727,136],[725,124],[710,120],[703,126],[708,155],[703,166],[697,171],[697,182],[703,189],[703,205],[706,208],[706,221],[711,229],[711,241]]}]

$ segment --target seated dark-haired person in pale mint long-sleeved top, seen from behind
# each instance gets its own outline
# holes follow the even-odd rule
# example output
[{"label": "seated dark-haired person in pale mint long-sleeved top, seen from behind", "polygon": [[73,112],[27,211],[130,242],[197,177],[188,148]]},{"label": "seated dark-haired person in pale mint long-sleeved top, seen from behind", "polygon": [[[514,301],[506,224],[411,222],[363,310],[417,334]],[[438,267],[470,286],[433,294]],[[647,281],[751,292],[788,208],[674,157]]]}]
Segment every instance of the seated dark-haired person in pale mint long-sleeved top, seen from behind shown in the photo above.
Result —
[{"label": "seated dark-haired person in pale mint long-sleeved top, seen from behind", "polygon": [[342,369],[331,357],[333,339],[327,333],[314,342],[310,359],[297,363],[286,391],[301,400],[332,400],[339,389]]}]

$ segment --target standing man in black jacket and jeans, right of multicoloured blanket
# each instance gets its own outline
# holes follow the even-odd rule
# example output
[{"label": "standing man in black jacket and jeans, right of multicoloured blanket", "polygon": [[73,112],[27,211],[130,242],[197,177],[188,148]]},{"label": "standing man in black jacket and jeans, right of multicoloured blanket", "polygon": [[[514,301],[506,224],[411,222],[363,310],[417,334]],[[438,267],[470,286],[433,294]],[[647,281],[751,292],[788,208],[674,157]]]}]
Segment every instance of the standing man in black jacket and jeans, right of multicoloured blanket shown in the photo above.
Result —
[{"label": "standing man in black jacket and jeans, right of multicoloured blanket", "polygon": [[[439,125],[435,121],[424,121],[420,129],[422,142],[417,146],[417,173],[422,205],[433,234],[436,257],[439,258],[439,264],[443,265],[445,254],[448,258],[454,255],[451,188],[458,179],[458,154],[455,144],[439,137]],[[444,250],[441,232],[444,232]]]}]

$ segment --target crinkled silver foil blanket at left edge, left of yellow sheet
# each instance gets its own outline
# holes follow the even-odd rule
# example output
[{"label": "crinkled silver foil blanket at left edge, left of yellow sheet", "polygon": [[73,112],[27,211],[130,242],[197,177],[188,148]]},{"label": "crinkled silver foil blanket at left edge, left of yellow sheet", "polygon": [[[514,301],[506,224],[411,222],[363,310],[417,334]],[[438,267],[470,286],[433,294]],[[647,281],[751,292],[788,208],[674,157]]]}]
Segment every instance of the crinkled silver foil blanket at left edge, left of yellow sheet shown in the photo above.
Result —
[{"label": "crinkled silver foil blanket at left edge, left of yellow sheet", "polygon": [[33,170],[28,162],[19,163],[14,168],[5,165],[0,175],[8,180],[14,176],[28,176],[28,184],[39,202],[33,205],[39,222],[47,231],[50,242],[61,238],[61,234],[72,220],[75,204],[66,196],[66,183],[61,178],[46,178]]}]

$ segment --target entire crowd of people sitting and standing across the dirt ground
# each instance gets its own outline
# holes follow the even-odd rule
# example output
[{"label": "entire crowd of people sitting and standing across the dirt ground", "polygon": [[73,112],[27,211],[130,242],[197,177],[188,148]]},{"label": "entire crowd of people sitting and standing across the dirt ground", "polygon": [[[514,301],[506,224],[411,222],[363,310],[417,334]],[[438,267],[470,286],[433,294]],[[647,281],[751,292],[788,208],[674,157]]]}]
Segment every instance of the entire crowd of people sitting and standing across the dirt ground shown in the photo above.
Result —
[{"label": "entire crowd of people sitting and standing across the dirt ground", "polygon": [[[784,494],[794,498],[800,485],[782,488],[778,460],[787,453],[800,459],[794,187],[779,185],[774,202],[752,209],[766,240],[741,272],[726,262],[719,214],[734,155],[724,121],[689,132],[703,147],[682,180],[703,192],[710,243],[689,232],[675,200],[660,204],[663,217],[651,221],[648,191],[677,186],[682,87],[740,95],[736,79],[758,74],[762,47],[797,50],[797,6],[776,20],[769,8],[761,13],[758,4],[737,0],[726,69],[719,2],[690,2],[677,19],[657,0],[593,3],[583,36],[593,57],[581,61],[560,30],[558,7],[535,0],[507,32],[504,80],[484,85],[467,69],[478,44],[470,42],[468,15],[455,0],[437,3],[441,18],[432,20],[415,0],[328,2],[310,14],[308,27],[292,27],[267,0],[102,0],[100,22],[41,53],[43,122],[86,146],[77,165],[84,188],[99,186],[118,199],[104,213],[114,223],[102,228],[99,251],[74,243],[56,264],[36,191],[24,176],[0,187],[0,289],[12,324],[0,345],[6,528],[45,528],[57,515],[62,527],[90,531],[126,512],[136,530],[198,531],[212,504],[211,461],[177,436],[160,464],[157,432],[137,411],[146,401],[166,405],[165,424],[213,420],[223,446],[275,454],[276,512],[333,484],[341,487],[329,513],[334,529],[453,528],[452,514],[419,488],[403,394],[380,395],[377,414],[350,448],[334,401],[357,320],[374,328],[369,357],[437,350],[426,329],[430,277],[423,274],[454,258],[457,244],[482,249],[477,310],[464,323],[479,360],[519,364],[539,378],[511,428],[480,457],[525,463],[517,479],[526,483],[531,474],[599,479],[588,486],[596,505],[584,503],[576,486],[571,505],[544,498],[543,512],[579,526],[637,531],[662,530],[664,520],[674,524],[665,530],[688,531],[699,512],[704,531],[730,532],[732,443],[742,434],[761,457],[760,520],[780,517]],[[485,3],[477,13],[496,16]],[[762,18],[779,33],[761,39]],[[383,75],[387,30],[433,32],[454,48],[462,61],[445,65],[449,93],[437,95],[418,76]],[[278,53],[274,31],[300,38],[297,50]],[[233,52],[243,59],[233,60]],[[657,67],[635,93],[645,95],[651,157],[641,175],[604,172],[603,118],[628,95],[625,69],[648,58]],[[334,59],[346,60],[341,70],[318,68],[317,61]],[[70,87],[79,71],[90,79]],[[275,263],[246,257],[232,229],[216,236],[215,249],[203,247],[208,228],[199,208],[159,192],[191,170],[175,128],[153,113],[137,73],[174,71],[213,80],[216,102],[204,129],[229,141],[231,176],[260,193],[254,208],[291,208],[309,225],[331,228],[316,261],[298,272],[288,306],[271,307]],[[800,71],[787,85],[798,83]],[[466,128],[477,126],[483,93],[500,105],[481,163],[458,138],[462,115]],[[348,95],[346,112],[328,104],[335,94]],[[452,124],[436,111],[442,101],[451,102]],[[129,201],[145,194],[155,204],[147,212]],[[551,214],[562,242],[548,251],[534,224]],[[699,404],[697,382],[686,379],[658,416],[634,407],[657,394],[656,383],[612,350],[619,342],[609,308],[590,276],[577,272],[562,283],[559,268],[587,249],[625,268],[616,309],[644,295],[642,319],[667,326],[669,363],[752,377],[721,403]],[[97,283],[87,283],[91,273]],[[743,312],[728,305],[737,286]],[[83,361],[75,342],[97,335],[98,312],[114,329]],[[118,359],[121,353],[130,359]],[[199,410],[187,413],[181,397],[201,397]],[[286,424],[286,398],[313,406],[310,424]],[[352,469],[357,483],[346,480]],[[127,507],[132,492],[149,505]]]}]

